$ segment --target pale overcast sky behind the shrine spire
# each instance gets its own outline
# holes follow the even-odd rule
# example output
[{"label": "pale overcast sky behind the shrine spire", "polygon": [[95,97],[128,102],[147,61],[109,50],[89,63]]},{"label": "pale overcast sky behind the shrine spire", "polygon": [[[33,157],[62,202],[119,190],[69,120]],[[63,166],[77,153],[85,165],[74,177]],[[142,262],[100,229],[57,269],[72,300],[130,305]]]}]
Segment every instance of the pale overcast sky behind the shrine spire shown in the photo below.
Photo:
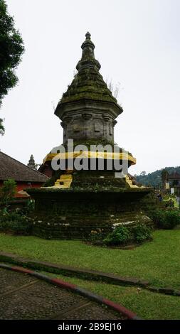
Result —
[{"label": "pale overcast sky behind the shrine spire", "polygon": [[90,31],[105,80],[120,82],[124,112],[115,141],[137,158],[129,173],[179,166],[179,0],[6,0],[26,51],[18,86],[4,98],[0,117],[4,153],[41,163],[62,144],[53,106],[73,80],[80,45]]}]

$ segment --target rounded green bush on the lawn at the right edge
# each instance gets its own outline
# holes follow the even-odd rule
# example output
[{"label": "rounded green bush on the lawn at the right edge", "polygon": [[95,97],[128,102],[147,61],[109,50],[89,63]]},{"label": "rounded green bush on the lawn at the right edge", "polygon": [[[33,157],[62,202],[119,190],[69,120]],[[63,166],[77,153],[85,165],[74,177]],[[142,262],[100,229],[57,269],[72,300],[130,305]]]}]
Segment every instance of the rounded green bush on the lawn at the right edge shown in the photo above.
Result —
[{"label": "rounded green bush on the lawn at the right edge", "polygon": [[162,229],[173,229],[180,224],[180,211],[178,209],[154,210],[149,214],[157,227]]}]

